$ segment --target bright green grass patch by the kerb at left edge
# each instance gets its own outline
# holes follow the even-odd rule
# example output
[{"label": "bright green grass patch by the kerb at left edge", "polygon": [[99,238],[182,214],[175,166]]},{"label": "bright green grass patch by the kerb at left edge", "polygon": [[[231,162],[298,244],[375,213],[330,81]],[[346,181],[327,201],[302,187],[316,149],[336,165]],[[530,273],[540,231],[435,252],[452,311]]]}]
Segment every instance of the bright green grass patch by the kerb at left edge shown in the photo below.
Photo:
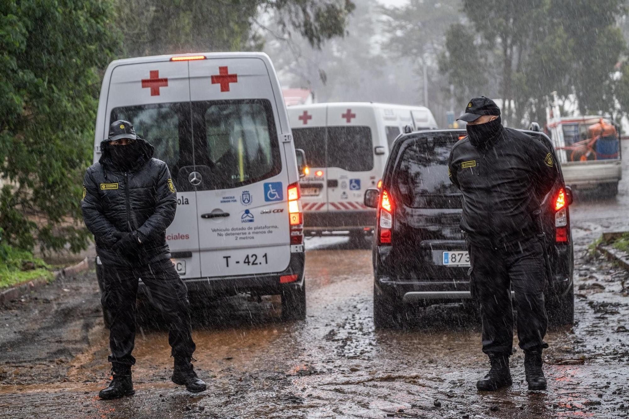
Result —
[{"label": "bright green grass patch by the kerb at left edge", "polygon": [[31,252],[0,245],[0,289],[9,288],[33,279],[53,279],[50,265]]}]

